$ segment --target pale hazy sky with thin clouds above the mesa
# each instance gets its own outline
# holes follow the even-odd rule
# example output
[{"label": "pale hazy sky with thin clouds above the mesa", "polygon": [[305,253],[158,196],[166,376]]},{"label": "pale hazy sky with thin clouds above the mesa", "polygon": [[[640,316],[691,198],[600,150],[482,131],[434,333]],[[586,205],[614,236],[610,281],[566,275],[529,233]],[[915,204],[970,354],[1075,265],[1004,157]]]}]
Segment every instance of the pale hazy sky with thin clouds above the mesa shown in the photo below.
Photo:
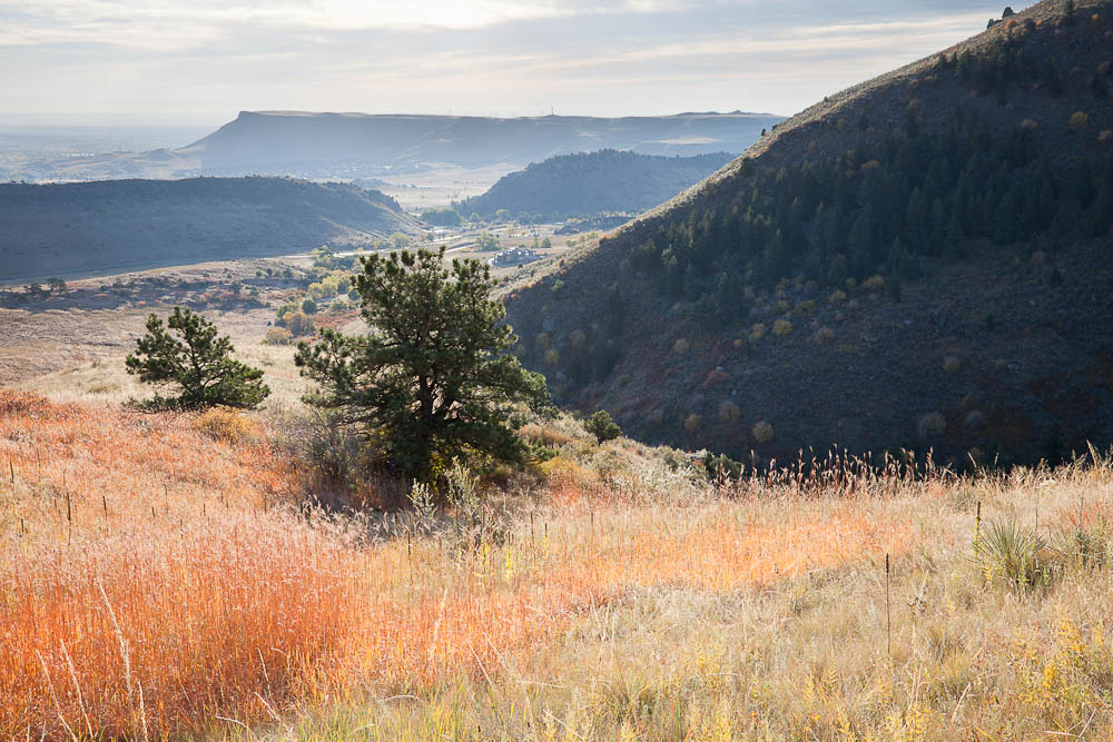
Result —
[{"label": "pale hazy sky with thin clouds above the mesa", "polygon": [[270,109],[787,115],[972,36],[1002,8],[978,0],[0,0],[0,123],[218,125],[239,110]]}]

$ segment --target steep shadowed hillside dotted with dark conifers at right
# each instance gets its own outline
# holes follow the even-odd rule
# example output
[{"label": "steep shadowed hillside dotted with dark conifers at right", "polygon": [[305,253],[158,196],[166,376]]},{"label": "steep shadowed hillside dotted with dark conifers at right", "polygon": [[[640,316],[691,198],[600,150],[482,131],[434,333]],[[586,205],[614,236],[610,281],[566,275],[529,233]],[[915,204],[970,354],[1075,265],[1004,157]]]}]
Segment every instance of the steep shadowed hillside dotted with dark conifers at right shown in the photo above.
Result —
[{"label": "steep shadowed hillside dotted with dark conifers at right", "polygon": [[1113,2],[826,99],[514,291],[558,400],[736,458],[1113,443]]}]

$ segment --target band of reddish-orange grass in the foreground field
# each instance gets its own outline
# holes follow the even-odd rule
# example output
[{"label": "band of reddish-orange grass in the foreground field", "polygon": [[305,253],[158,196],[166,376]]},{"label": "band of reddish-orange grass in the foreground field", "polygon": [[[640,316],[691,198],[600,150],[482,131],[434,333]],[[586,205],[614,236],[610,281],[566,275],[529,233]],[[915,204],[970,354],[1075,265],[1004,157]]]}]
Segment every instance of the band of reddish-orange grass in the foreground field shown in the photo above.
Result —
[{"label": "band of reddish-orange grass in the foreground field", "polygon": [[[905,547],[892,501],[556,509],[410,543],[283,506],[277,448],[0,392],[0,735],[200,734],[528,662],[587,605],[728,592]],[[107,505],[107,515],[105,508]],[[884,530],[878,523],[884,523]],[[884,535],[883,535],[884,532]],[[234,720],[226,721],[226,720]]]}]

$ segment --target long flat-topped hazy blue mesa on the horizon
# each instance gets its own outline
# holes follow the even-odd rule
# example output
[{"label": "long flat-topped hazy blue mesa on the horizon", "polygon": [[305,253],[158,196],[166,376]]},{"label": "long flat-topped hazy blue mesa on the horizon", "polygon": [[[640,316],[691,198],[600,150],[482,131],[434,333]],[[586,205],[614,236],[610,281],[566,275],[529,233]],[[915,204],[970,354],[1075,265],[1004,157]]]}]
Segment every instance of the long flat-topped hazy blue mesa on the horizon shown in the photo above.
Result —
[{"label": "long flat-topped hazy blue mesa on the horizon", "polygon": [[315,177],[341,164],[367,171],[416,162],[465,168],[540,162],[600,149],[644,155],[741,152],[780,117],[680,113],[627,118],[544,116],[500,119],[243,111],[214,133],[179,150],[204,172],[297,172]]}]

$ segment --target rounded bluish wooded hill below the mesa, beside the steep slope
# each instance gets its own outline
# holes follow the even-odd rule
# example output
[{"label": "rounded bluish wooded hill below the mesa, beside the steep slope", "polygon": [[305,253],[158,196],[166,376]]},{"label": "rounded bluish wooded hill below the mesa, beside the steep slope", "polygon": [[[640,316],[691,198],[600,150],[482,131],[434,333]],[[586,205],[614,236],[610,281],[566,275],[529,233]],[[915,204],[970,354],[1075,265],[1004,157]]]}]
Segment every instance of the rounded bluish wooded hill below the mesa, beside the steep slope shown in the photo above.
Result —
[{"label": "rounded bluish wooded hill below the mesa, beside the steep slope", "polygon": [[600,212],[640,214],[708,177],[732,156],[660,157],[605,149],[561,155],[503,176],[482,196],[456,206],[460,214],[542,215],[550,221]]}]

